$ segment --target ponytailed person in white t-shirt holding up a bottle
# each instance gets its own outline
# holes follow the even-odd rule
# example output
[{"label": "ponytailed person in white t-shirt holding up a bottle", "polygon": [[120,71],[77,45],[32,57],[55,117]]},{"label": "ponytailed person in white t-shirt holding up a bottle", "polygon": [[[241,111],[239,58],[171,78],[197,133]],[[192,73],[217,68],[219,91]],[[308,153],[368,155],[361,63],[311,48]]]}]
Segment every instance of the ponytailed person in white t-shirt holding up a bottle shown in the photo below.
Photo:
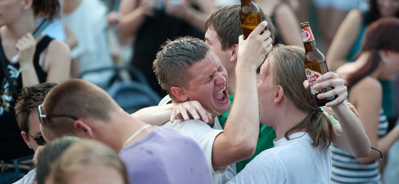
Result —
[{"label": "ponytailed person in white t-shirt holding up a bottle", "polygon": [[[343,103],[347,97],[346,87],[337,74],[322,75],[313,87],[316,90],[334,87],[318,98],[337,94],[326,105],[334,110],[340,123],[333,124],[320,107],[314,106],[308,88],[303,86],[304,55],[305,51],[298,46],[277,45],[262,64],[258,79],[260,122],[276,131],[274,148],[256,156],[228,184],[327,184],[331,175],[329,146],[332,142],[352,154],[364,145],[370,150],[361,122]],[[348,131],[348,126],[357,126],[361,131]],[[349,147],[345,138],[361,134],[364,139],[360,139],[359,146]],[[368,153],[370,151],[355,155],[364,157]]]}]

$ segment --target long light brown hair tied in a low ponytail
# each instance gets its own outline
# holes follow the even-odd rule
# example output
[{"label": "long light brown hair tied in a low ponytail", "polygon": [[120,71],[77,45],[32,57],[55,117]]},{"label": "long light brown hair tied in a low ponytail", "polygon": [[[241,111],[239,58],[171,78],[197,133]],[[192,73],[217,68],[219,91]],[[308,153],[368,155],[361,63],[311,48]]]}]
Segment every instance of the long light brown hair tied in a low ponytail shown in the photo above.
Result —
[{"label": "long light brown hair tied in a low ponytail", "polygon": [[284,94],[292,103],[308,115],[296,126],[285,132],[285,138],[292,132],[306,129],[312,139],[312,146],[317,147],[323,143],[323,148],[331,144],[334,136],[334,128],[330,117],[313,105],[309,90],[303,87],[306,80],[303,58],[305,51],[298,46],[277,45],[270,52],[269,57],[273,56],[274,65],[272,66],[274,85],[283,88]]}]

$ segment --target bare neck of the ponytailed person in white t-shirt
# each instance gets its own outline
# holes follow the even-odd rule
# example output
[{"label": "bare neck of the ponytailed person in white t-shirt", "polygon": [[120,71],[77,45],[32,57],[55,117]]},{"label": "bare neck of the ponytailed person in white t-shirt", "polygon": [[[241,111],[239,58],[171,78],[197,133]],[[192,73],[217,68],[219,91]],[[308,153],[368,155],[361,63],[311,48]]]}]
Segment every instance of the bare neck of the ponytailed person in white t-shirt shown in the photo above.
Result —
[{"label": "bare neck of the ponytailed person in white t-shirt", "polygon": [[[306,117],[306,113],[299,110],[297,107],[294,106],[292,103],[287,103],[285,105],[281,105],[280,107],[275,107],[274,111],[274,119],[271,120],[271,126],[276,131],[276,140],[284,138],[285,132],[287,132],[292,127],[299,124],[303,118]],[[289,112],[289,115],[287,115]],[[305,130],[297,130],[295,132],[302,132]]]}]

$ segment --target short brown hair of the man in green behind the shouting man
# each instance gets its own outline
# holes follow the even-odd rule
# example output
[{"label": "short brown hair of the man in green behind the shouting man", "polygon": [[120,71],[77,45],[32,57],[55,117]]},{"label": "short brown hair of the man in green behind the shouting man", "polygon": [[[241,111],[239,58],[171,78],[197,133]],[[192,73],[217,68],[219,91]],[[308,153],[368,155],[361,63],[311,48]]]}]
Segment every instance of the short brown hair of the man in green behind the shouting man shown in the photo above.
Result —
[{"label": "short brown hair of the man in green behind the shouting man", "polygon": [[[239,10],[239,4],[226,5],[214,10],[206,20],[205,30],[210,28],[217,33],[222,50],[238,44],[238,37],[242,34]],[[270,37],[274,40],[274,25],[260,7],[259,10],[262,20],[266,20],[268,23],[266,30],[270,31]]]}]

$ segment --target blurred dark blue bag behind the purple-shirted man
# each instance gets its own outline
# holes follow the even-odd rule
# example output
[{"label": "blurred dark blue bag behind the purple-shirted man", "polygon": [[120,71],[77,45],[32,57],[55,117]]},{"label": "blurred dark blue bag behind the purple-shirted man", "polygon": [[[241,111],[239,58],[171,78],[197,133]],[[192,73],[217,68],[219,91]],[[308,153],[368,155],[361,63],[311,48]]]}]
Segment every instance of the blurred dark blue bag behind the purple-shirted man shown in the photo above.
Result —
[{"label": "blurred dark blue bag behind the purple-shirted man", "polygon": [[114,76],[103,89],[126,112],[133,113],[144,107],[158,105],[161,97],[149,86],[143,73],[132,66],[105,67],[86,71],[81,76],[107,70],[114,71]]}]

